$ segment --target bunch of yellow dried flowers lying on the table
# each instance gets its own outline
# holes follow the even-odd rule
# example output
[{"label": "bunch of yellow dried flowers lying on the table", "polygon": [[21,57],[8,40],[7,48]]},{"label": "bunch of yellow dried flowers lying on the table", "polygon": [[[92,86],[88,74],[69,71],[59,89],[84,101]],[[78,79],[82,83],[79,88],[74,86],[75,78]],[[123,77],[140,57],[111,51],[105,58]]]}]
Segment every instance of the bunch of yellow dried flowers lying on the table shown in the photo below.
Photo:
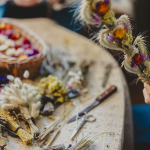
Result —
[{"label": "bunch of yellow dried flowers lying on the table", "polygon": [[63,103],[68,101],[68,88],[63,84],[58,77],[49,75],[42,78],[37,85],[37,89],[42,95],[50,96],[55,100],[55,103]]}]

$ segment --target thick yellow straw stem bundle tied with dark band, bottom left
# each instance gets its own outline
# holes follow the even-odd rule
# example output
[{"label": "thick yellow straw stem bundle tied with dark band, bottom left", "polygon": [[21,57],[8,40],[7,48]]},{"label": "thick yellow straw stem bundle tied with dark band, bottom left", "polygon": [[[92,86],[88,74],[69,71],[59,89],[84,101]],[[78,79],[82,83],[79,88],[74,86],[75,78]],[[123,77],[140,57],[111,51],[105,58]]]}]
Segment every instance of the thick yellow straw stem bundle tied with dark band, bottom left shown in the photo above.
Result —
[{"label": "thick yellow straw stem bundle tied with dark band, bottom left", "polygon": [[0,117],[6,119],[5,127],[10,131],[17,134],[25,144],[30,144],[33,141],[33,136],[28,134],[14,121],[14,118],[10,116],[10,113],[0,107]]}]

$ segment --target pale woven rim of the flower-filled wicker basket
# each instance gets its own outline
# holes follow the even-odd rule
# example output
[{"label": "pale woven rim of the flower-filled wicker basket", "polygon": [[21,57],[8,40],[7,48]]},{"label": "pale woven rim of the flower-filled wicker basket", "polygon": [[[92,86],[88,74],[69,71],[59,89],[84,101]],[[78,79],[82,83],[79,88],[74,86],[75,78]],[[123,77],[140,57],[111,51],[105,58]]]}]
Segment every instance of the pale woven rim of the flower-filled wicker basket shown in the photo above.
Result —
[{"label": "pale woven rim of the flower-filled wicker basket", "polygon": [[31,35],[33,38],[35,38],[43,47],[42,52],[40,52],[37,55],[30,56],[27,59],[15,58],[15,57],[6,56],[4,54],[0,54],[0,61],[1,62],[5,62],[5,63],[8,63],[8,64],[16,64],[16,63],[22,64],[22,63],[27,63],[29,61],[36,61],[37,59],[44,58],[46,56],[46,54],[48,52],[48,47],[45,44],[45,42],[35,32],[30,30],[26,26],[18,23],[15,19],[1,18],[0,22],[12,24],[12,25],[20,28],[21,30],[25,31],[26,33]]}]

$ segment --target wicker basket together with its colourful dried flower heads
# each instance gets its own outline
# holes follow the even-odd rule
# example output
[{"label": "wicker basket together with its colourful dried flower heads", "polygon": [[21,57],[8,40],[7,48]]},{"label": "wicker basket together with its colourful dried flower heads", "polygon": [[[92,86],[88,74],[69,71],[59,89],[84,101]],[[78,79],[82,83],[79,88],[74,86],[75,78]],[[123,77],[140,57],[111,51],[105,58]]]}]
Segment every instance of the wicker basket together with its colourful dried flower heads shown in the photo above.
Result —
[{"label": "wicker basket together with its colourful dried flower heads", "polygon": [[44,41],[34,32],[13,19],[1,19],[0,68],[6,70],[4,75],[22,79],[24,71],[28,70],[30,79],[36,78],[47,50]]}]

